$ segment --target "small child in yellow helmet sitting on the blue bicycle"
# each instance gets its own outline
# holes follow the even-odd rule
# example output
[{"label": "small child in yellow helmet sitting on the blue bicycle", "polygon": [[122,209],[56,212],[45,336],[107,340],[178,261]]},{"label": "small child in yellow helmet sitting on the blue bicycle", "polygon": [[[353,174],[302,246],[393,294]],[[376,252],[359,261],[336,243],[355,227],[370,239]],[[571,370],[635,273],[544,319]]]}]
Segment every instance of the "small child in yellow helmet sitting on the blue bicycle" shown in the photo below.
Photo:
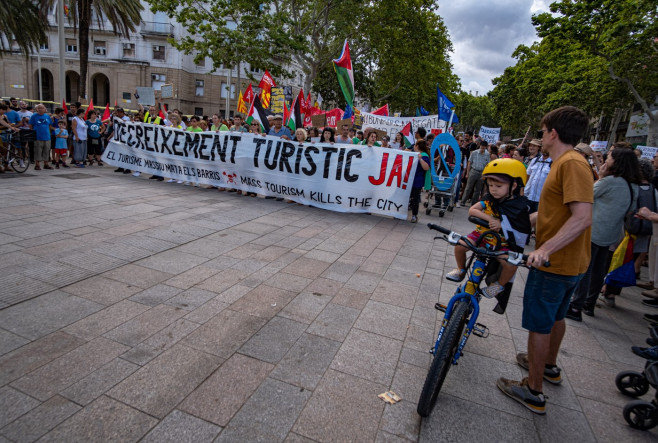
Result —
[{"label": "small child in yellow helmet sitting on the blue bicycle", "polygon": [[[471,206],[468,214],[487,220],[489,226],[476,225],[475,230],[468,234],[468,239],[476,243],[484,232],[492,230],[500,233],[503,239],[502,244],[498,245],[499,250],[522,252],[531,228],[528,200],[520,195],[528,178],[525,166],[511,158],[497,159],[484,168],[482,178],[488,192],[484,200]],[[489,238],[483,239],[482,243],[488,247],[496,246]],[[457,269],[446,274],[448,280],[460,282],[466,276],[467,251],[462,244],[455,246]],[[500,278],[482,290],[485,297],[492,298],[503,292],[516,272],[516,266],[503,259],[499,261],[502,265]]]}]

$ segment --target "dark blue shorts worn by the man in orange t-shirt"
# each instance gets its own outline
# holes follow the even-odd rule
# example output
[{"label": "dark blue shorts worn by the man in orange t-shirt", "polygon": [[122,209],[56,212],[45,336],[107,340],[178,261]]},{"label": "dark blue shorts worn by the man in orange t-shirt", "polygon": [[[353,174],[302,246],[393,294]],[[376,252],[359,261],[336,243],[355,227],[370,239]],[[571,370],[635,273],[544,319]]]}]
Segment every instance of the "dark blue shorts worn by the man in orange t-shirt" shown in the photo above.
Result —
[{"label": "dark blue shorts worn by the man in orange t-shirt", "polygon": [[558,275],[530,269],[523,294],[523,328],[550,334],[553,324],[566,316],[571,296],[583,275]]}]

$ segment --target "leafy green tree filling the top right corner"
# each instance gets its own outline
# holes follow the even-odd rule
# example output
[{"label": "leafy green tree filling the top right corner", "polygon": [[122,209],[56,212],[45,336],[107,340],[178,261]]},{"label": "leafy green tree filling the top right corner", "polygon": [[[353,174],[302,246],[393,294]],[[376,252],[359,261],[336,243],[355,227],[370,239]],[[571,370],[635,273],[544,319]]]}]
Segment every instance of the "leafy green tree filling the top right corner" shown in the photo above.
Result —
[{"label": "leafy green tree filling the top right corner", "polygon": [[650,118],[647,144],[658,146],[658,8],[655,0],[560,0],[533,17],[540,37],[578,43]]}]

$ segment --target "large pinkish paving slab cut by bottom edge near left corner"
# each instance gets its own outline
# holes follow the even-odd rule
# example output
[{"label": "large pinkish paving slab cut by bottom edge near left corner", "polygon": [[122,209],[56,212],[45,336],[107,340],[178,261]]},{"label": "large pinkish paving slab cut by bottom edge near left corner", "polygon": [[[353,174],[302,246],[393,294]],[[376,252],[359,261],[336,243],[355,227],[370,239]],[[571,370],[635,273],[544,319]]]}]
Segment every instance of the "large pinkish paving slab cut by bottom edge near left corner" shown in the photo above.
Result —
[{"label": "large pinkish paving slab cut by bottom edge near left corner", "polygon": [[137,441],[157,423],[157,419],[103,396],[40,441]]}]

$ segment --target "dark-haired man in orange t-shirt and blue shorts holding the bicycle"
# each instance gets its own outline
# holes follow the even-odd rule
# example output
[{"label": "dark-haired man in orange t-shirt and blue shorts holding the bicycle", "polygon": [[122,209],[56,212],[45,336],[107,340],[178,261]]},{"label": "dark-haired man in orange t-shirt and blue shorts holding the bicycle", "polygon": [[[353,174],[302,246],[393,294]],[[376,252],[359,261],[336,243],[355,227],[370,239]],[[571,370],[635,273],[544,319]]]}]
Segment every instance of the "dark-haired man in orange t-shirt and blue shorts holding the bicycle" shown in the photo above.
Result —
[{"label": "dark-haired man in orange t-shirt and blue shorts holding the bicycle", "polygon": [[[569,301],[590,261],[594,180],[587,160],[573,147],[585,133],[589,118],[578,108],[564,106],[541,121],[543,148],[553,164],[536,214],[537,242],[529,254],[533,268],[523,294],[523,328],[528,329],[528,353],[516,356],[528,369],[522,381],[498,379],[498,388],[526,408],[544,414],[542,379],[562,382],[557,355],[565,333]],[[533,218],[533,216],[531,216]],[[544,263],[550,258],[550,267]]]}]

